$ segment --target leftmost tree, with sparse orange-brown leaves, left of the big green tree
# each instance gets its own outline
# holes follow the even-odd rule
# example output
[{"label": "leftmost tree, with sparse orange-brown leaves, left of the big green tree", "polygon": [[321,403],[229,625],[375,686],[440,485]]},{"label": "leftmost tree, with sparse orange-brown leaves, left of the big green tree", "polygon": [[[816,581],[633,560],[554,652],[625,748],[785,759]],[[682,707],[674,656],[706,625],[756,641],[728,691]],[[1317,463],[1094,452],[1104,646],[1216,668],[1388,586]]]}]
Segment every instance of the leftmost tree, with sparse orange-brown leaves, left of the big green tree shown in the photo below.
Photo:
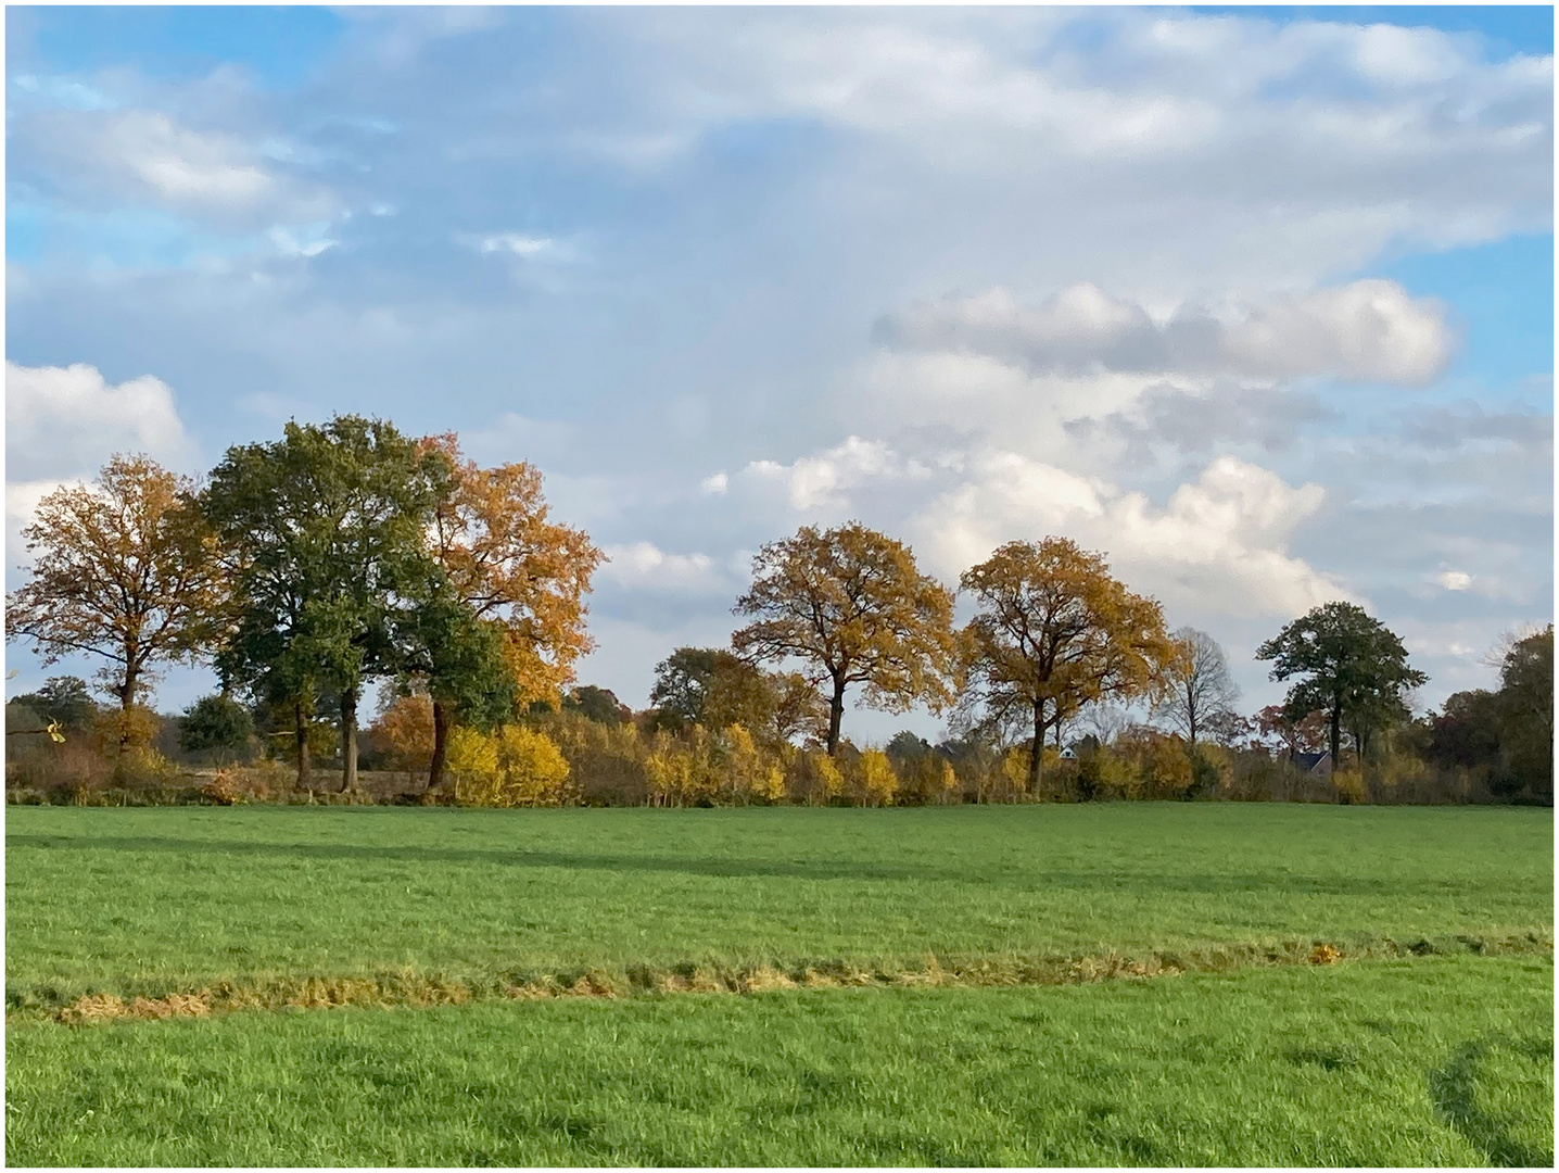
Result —
[{"label": "leftmost tree, with sparse orange-brown leaves, left of the big green tree", "polygon": [[195,482],[142,455],[115,455],[92,485],[45,496],[22,530],[28,582],[6,596],[6,638],[45,664],[72,652],[108,661],[126,713],[156,666],[200,658],[221,630],[226,585]]}]

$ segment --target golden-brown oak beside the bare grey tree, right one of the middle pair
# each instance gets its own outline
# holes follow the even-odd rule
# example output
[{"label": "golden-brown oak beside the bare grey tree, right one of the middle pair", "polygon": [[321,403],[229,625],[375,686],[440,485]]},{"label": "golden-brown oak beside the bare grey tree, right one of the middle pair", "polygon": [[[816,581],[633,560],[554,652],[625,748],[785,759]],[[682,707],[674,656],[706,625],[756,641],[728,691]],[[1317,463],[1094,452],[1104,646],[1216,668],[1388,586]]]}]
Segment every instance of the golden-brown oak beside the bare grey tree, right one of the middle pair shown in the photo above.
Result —
[{"label": "golden-brown oak beside the bare grey tree, right one of the middle pair", "polygon": [[1027,719],[1030,792],[1046,728],[1084,705],[1149,693],[1174,663],[1158,604],[1069,538],[1009,541],[960,585],[979,607],[963,632],[971,691],[992,719]]}]

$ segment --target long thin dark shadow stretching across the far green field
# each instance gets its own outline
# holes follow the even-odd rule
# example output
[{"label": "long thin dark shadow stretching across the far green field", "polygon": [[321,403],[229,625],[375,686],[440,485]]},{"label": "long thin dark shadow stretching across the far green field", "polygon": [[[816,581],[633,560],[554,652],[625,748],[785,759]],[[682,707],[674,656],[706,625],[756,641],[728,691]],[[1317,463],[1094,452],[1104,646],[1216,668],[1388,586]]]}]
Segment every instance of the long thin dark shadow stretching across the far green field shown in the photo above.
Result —
[{"label": "long thin dark shadow stretching across the far green field", "polygon": [[592,872],[672,872],[716,878],[786,877],[797,880],[917,880],[946,883],[977,883],[1029,891],[1077,889],[1098,892],[1104,883],[1132,888],[1138,892],[1191,892],[1228,895],[1230,892],[1271,892],[1274,895],[1392,895],[1400,898],[1405,888],[1412,894],[1456,894],[1462,888],[1430,877],[1405,884],[1400,877],[1300,877],[1292,874],[1247,875],[1169,875],[1147,872],[1054,872],[1035,869],[1016,874],[990,869],[939,869],[895,866],[845,859],[753,859],[753,858],[688,858],[656,855],[597,855],[588,852],[543,852],[532,849],[427,847],[416,844],[288,844],[240,839],[179,839],[170,836],[103,836],[65,838],[58,835],[11,835],[8,849],[39,849],[67,852],[171,852],[181,855],[265,855],[292,859],[404,859],[437,864],[490,864],[499,867],[566,867]]}]

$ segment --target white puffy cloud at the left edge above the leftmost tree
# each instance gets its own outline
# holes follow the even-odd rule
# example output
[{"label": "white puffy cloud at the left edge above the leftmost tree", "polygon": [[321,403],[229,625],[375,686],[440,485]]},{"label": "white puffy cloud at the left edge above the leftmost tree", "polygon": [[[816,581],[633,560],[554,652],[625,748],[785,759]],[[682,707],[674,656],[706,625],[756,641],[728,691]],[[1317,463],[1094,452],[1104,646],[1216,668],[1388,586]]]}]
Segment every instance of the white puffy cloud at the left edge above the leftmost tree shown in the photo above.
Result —
[{"label": "white puffy cloud at the left edge above the leftmost tree", "polygon": [[150,374],[109,384],[86,363],[8,362],[5,390],[6,476],[16,482],[90,477],[114,452],[189,459],[173,392]]}]

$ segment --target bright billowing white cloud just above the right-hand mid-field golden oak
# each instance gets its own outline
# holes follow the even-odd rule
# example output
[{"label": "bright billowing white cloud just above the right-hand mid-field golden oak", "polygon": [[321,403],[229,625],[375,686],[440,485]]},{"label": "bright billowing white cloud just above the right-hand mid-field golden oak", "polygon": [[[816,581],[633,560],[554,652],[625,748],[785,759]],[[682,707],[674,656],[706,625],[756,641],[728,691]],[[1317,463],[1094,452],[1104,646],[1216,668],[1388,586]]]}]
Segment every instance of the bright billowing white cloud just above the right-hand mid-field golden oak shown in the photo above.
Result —
[{"label": "bright billowing white cloud just above the right-hand mid-field golden oak", "polygon": [[1319,485],[1294,488],[1264,468],[1219,457],[1158,509],[1140,491],[992,451],[910,526],[917,549],[948,577],[1002,541],[1062,533],[1105,551],[1116,574],[1169,607],[1286,616],[1349,597],[1288,551],[1294,527],[1324,496]]}]

